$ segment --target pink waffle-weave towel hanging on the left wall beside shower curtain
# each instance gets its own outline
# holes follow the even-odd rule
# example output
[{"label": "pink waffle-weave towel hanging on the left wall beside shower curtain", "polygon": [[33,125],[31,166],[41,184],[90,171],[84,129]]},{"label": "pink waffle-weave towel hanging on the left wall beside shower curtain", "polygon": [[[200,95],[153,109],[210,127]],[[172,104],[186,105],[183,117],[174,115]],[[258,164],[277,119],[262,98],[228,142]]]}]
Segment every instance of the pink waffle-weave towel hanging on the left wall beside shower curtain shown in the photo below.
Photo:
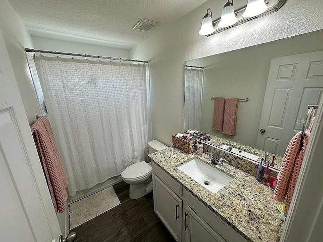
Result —
[{"label": "pink waffle-weave towel hanging on the left wall beside shower curtain", "polygon": [[47,117],[43,116],[31,126],[35,132],[34,139],[38,155],[55,211],[63,213],[66,209],[68,194],[66,192],[67,178],[58,153],[55,138]]}]

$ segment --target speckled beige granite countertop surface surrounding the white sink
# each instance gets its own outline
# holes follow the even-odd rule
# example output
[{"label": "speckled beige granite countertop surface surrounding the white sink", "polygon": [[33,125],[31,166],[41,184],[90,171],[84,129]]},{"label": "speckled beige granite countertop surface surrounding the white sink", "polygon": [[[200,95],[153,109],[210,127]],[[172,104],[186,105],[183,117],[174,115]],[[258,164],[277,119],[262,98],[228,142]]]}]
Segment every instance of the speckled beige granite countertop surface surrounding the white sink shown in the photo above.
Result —
[{"label": "speckled beige granite countertop surface surrounding the white sink", "polygon": [[211,165],[203,154],[186,154],[174,147],[152,153],[149,158],[170,174],[199,201],[216,213],[248,241],[279,241],[283,222],[279,219],[277,201],[270,198],[268,187],[255,177],[228,164],[213,166],[233,179],[216,194],[202,187],[195,180],[177,169],[188,159],[198,157]]}]

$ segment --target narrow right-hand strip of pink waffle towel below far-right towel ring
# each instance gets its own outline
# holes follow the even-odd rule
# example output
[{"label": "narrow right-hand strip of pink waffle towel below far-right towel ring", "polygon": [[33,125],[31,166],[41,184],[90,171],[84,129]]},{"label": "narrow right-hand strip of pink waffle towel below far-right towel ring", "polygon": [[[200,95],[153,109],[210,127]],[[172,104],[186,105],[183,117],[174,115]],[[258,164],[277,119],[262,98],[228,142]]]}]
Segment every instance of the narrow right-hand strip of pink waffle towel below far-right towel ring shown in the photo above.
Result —
[{"label": "narrow right-hand strip of pink waffle towel below far-right towel ring", "polygon": [[308,145],[308,140],[310,137],[310,132],[308,130],[306,130],[305,132],[305,136],[303,138],[303,147],[301,149],[301,151],[299,152],[296,162],[295,162],[295,166],[294,166],[294,170],[292,173],[292,177],[290,180],[290,184],[288,187],[288,193],[287,193],[287,204],[286,204],[286,208],[285,208],[285,216],[287,216],[287,212],[289,210],[289,206],[291,205],[291,201],[292,201],[292,197],[294,195],[294,191],[295,191],[295,186],[296,186],[296,181],[299,175],[299,171],[301,169],[302,166],[302,162],[304,159],[304,154]]}]

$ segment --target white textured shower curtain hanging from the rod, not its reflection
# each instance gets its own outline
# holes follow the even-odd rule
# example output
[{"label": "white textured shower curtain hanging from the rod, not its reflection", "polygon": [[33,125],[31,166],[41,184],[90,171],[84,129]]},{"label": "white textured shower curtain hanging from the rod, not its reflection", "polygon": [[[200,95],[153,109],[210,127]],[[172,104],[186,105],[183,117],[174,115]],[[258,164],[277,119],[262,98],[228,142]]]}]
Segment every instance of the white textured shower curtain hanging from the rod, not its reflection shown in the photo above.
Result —
[{"label": "white textured shower curtain hanging from the rod, not its reflection", "polygon": [[144,160],[151,134],[145,64],[43,55],[34,61],[69,195]]}]

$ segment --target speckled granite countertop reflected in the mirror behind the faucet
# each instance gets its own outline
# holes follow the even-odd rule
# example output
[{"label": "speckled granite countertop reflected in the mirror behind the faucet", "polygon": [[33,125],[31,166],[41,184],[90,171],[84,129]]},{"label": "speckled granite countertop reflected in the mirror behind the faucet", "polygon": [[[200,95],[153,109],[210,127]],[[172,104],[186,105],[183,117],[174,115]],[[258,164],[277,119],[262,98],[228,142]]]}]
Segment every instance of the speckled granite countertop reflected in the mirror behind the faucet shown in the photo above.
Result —
[{"label": "speckled granite countertop reflected in the mirror behind the faucet", "polygon": [[[263,150],[258,150],[256,148],[252,148],[250,146],[247,146],[247,145],[243,145],[243,144],[240,144],[240,143],[237,143],[237,142],[233,142],[231,140],[227,140],[227,139],[224,139],[224,138],[220,138],[218,136],[214,136],[214,135],[210,135],[210,141],[204,141],[205,143],[209,143],[211,145],[215,145],[215,146],[219,146],[223,143],[226,143],[234,148],[237,148],[237,149],[240,149],[240,150],[243,150],[243,151],[246,151],[250,154],[254,154],[254,155],[257,155],[257,156],[260,156],[260,158],[258,158],[256,161],[260,162],[260,159],[261,157],[264,157],[265,154],[267,154],[268,152],[265,152]],[[220,148],[221,149],[221,148]],[[275,155],[276,158],[275,158],[275,168],[277,170],[280,170],[281,169],[281,165],[282,165],[282,162],[283,162],[283,157],[279,156],[279,155]],[[272,162],[273,160],[273,154],[270,154],[269,153],[269,156],[268,156],[268,160]]]}]

